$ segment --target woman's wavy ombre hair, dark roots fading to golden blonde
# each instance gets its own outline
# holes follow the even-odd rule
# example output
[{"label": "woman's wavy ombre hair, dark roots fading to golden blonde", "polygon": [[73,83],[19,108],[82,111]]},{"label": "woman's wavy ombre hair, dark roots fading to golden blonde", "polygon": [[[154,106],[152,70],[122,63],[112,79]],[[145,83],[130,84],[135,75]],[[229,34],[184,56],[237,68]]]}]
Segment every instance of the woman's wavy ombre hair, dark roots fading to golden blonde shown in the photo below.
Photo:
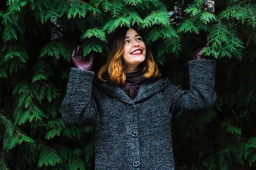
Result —
[{"label": "woman's wavy ombre hair, dark roots fading to golden blonde", "polygon": [[[136,30],[135,27],[131,27]],[[126,80],[125,76],[125,62],[123,59],[125,36],[129,28],[123,28],[117,31],[110,45],[110,50],[107,55],[107,62],[98,71],[98,79],[101,82],[110,81],[116,85],[123,85]],[[138,32],[142,37],[142,34]],[[142,37],[143,40],[143,37]],[[146,44],[145,44],[146,45]],[[157,64],[154,62],[153,55],[150,48],[146,46],[146,58],[140,63],[139,67],[142,69],[143,77],[146,79],[160,78],[161,73],[158,70]]]}]

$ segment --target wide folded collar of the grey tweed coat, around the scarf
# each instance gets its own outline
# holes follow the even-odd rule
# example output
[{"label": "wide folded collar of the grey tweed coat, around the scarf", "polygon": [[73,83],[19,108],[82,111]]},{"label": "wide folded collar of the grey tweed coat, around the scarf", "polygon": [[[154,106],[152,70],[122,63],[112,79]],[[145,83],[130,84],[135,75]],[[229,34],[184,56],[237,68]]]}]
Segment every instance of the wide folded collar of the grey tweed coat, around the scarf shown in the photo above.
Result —
[{"label": "wide folded collar of the grey tweed coat, around the scarf", "polygon": [[165,87],[167,87],[170,84],[170,80],[168,78],[164,78],[164,79],[159,79],[151,82],[149,81],[143,82],[140,85],[139,91],[133,100],[129,98],[129,96],[124,92],[124,90],[120,86],[103,83],[98,78],[94,80],[94,84],[99,89],[101,89],[108,95],[112,96],[113,98],[121,100],[122,102],[125,102],[125,103],[134,104],[163,90]]}]

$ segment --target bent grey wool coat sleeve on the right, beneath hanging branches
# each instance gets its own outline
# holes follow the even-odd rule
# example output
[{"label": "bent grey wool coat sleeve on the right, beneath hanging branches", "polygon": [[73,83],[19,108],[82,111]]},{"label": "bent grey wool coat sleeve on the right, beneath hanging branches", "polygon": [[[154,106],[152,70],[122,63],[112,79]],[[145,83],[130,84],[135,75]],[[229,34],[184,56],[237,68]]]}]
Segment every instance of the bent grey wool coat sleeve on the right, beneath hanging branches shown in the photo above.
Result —
[{"label": "bent grey wool coat sleeve on the right, beneath hanging branches", "polygon": [[214,91],[216,60],[191,60],[188,90],[177,86],[172,96],[170,111],[174,117],[203,116],[217,99]]}]

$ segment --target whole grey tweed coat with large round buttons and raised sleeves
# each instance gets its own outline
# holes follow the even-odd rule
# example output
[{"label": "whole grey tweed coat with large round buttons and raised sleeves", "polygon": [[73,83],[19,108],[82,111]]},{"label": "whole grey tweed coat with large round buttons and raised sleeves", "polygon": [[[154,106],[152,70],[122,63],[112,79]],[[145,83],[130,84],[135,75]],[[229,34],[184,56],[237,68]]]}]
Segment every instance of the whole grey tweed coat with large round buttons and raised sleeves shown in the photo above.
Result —
[{"label": "whole grey tweed coat with large round buttons and raised sleeves", "polygon": [[95,126],[95,169],[174,169],[171,119],[202,116],[217,99],[215,60],[191,60],[190,88],[168,78],[144,82],[135,99],[120,86],[71,68],[62,118],[70,126]]}]

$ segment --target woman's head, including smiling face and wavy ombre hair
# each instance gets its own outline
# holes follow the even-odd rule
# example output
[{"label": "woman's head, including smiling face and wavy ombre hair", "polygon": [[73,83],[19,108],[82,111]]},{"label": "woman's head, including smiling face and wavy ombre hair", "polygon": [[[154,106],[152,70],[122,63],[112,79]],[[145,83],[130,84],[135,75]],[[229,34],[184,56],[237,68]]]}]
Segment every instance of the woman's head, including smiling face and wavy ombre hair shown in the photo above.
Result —
[{"label": "woman's head, including smiling face and wavy ombre hair", "polygon": [[138,69],[142,71],[145,79],[160,78],[161,74],[154,62],[150,48],[146,47],[142,32],[138,31],[136,27],[119,28],[109,36],[108,46],[110,50],[107,62],[98,71],[98,79],[102,82],[124,85],[126,72]]}]

